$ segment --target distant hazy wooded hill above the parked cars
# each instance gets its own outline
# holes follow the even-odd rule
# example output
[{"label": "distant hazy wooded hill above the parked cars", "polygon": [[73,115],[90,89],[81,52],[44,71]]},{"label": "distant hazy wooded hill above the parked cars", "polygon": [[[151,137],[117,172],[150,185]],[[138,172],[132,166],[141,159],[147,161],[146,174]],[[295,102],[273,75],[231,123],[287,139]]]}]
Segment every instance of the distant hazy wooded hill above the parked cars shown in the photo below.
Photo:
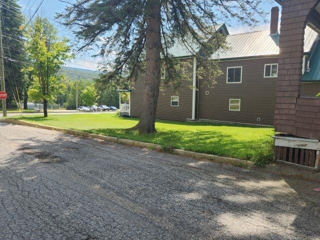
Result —
[{"label": "distant hazy wooded hill above the parked cars", "polygon": [[83,68],[62,66],[61,71],[71,81],[82,79],[82,80],[88,80],[93,82],[94,78],[99,77],[99,71],[93,71],[93,70],[83,69]]}]

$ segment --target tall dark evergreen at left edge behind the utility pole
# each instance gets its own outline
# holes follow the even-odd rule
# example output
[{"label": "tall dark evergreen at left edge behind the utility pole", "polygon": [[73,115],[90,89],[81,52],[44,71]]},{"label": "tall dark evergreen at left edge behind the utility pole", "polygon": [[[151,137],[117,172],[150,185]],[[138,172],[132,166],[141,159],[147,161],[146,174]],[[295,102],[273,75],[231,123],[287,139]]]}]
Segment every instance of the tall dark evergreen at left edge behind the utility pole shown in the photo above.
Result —
[{"label": "tall dark evergreen at left edge behind the utility pole", "polygon": [[[25,85],[24,73],[21,72],[25,61],[23,40],[23,16],[17,0],[1,0],[2,45],[4,61],[5,90],[7,108],[12,101],[22,100]],[[13,61],[14,60],[14,61]]]}]

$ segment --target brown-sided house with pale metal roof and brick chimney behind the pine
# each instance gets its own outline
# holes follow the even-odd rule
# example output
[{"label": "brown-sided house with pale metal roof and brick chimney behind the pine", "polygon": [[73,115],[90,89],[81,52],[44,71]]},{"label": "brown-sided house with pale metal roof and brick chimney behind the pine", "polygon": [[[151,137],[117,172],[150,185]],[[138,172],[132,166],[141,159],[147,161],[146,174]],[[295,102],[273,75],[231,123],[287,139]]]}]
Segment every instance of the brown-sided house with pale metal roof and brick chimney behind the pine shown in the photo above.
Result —
[{"label": "brown-sided house with pale metal roof and brick chimney behind the pine", "polygon": [[[170,48],[171,54],[181,61],[192,62],[189,69],[185,69],[191,77],[182,82],[177,91],[166,87],[160,92],[156,118],[273,125],[279,72],[278,11],[278,7],[271,9],[270,29],[267,30],[229,34],[225,24],[216,26],[218,32],[226,35],[229,48],[211,56],[218,60],[223,72],[213,87],[205,84],[208,76],[199,78],[196,75],[196,69],[202,63],[177,41]],[[306,26],[301,62],[301,92],[306,96],[320,92],[320,73],[316,74],[315,66],[315,56],[320,56],[317,54],[320,42],[317,42],[318,33]],[[140,116],[143,90],[144,78],[141,77],[131,85],[125,105],[129,110],[125,114]]]}]

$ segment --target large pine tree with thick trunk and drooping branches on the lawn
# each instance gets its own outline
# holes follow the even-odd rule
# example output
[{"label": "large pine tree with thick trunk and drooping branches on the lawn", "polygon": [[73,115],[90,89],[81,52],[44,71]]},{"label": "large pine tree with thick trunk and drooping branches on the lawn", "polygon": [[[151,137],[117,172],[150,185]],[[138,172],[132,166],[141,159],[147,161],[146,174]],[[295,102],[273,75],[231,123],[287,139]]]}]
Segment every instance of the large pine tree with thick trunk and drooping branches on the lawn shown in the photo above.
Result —
[{"label": "large pine tree with thick trunk and drooping branches on the lawn", "polygon": [[214,25],[228,18],[254,25],[256,16],[264,16],[260,3],[260,0],[76,0],[58,18],[73,29],[79,39],[79,50],[98,44],[100,55],[111,59],[111,64],[105,65],[109,71],[106,79],[131,80],[145,73],[142,112],[134,128],[148,133],[155,131],[161,64],[167,72],[165,83],[179,85],[176,61],[167,49],[179,39],[190,55],[208,57],[224,43]]}]

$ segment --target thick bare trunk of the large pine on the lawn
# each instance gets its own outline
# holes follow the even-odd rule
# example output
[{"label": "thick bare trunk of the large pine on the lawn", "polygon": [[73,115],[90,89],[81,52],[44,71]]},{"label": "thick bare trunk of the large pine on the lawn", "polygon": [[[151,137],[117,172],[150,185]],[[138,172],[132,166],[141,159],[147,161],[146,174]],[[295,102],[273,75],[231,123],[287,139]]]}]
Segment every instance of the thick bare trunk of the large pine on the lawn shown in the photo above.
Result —
[{"label": "thick bare trunk of the large pine on the lawn", "polygon": [[146,86],[143,92],[141,117],[133,129],[140,133],[155,132],[155,113],[160,86],[160,0],[147,1],[146,19]]}]

